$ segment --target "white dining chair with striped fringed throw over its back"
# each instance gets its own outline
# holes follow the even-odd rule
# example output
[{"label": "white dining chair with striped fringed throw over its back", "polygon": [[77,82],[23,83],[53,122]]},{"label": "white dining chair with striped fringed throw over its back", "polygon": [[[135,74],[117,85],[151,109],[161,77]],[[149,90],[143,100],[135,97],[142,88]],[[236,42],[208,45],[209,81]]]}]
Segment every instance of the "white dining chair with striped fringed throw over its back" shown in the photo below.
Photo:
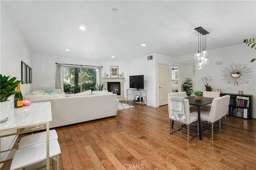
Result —
[{"label": "white dining chair with striped fringed throw over its back", "polygon": [[[182,112],[175,110],[175,108],[177,108],[177,106],[175,106],[177,103],[174,102],[173,100],[176,100],[176,99],[183,100]],[[182,135],[185,135],[187,136],[188,143],[198,136],[198,130],[196,132],[192,132],[190,129],[190,124],[194,122],[198,122],[198,116],[197,116],[197,111],[194,111],[192,114],[190,113],[188,99],[184,99],[183,97],[178,97],[178,96],[168,97],[168,112],[169,112],[169,119],[170,119],[170,134],[177,132]],[[175,117],[176,113],[178,114],[178,117]],[[179,126],[174,125],[175,121],[178,122],[180,125]],[[187,129],[184,128],[184,126],[186,125],[187,125]],[[173,127],[178,127],[178,129],[174,130]],[[187,130],[187,134],[182,133],[181,132],[182,129]],[[194,137],[190,135],[190,132],[195,134]]]}]

